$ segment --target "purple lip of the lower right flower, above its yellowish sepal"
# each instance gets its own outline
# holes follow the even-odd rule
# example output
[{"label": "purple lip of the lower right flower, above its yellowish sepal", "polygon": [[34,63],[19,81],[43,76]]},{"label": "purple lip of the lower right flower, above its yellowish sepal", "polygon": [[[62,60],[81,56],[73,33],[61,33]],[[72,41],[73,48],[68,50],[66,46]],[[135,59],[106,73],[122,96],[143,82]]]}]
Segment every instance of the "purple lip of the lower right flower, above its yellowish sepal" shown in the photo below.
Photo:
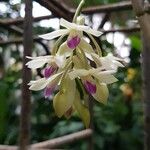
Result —
[{"label": "purple lip of the lower right flower, above its yellowish sepal", "polygon": [[95,84],[91,83],[90,81],[85,81],[84,85],[85,85],[85,89],[87,90],[87,92],[89,92],[90,94],[96,93],[96,85]]}]

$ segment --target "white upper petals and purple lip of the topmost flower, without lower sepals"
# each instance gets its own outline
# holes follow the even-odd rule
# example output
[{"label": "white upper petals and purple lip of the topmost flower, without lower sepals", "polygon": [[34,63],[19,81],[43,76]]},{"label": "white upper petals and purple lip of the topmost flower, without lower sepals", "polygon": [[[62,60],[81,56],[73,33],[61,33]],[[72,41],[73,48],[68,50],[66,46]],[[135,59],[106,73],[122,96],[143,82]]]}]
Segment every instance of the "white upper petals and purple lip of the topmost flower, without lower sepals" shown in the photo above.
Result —
[{"label": "white upper petals and purple lip of the topmost flower, without lower sepals", "polygon": [[61,18],[60,25],[65,27],[66,29],[60,29],[57,31],[53,31],[40,37],[46,40],[52,40],[62,35],[68,35],[67,42],[65,44],[68,46],[68,49],[75,49],[78,45],[82,47],[84,44],[83,32],[99,37],[102,32],[93,30],[92,28],[84,25],[80,25],[84,23],[83,17],[77,18],[77,24],[68,22],[67,20]]}]

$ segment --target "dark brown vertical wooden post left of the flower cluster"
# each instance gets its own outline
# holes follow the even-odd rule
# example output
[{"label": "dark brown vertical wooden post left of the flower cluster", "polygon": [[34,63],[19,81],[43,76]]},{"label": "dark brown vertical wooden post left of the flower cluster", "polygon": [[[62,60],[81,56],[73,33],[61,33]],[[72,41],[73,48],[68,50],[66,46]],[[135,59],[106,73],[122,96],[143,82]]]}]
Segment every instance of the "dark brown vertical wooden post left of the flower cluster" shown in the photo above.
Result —
[{"label": "dark brown vertical wooden post left of the flower cluster", "polygon": [[23,70],[22,70],[22,101],[20,115],[20,137],[19,149],[27,150],[30,144],[30,111],[31,111],[31,92],[27,84],[31,80],[31,71],[25,66],[27,63],[26,56],[31,56],[33,44],[32,37],[32,1],[25,0],[25,19],[24,19],[24,35],[23,35]]}]

